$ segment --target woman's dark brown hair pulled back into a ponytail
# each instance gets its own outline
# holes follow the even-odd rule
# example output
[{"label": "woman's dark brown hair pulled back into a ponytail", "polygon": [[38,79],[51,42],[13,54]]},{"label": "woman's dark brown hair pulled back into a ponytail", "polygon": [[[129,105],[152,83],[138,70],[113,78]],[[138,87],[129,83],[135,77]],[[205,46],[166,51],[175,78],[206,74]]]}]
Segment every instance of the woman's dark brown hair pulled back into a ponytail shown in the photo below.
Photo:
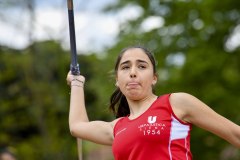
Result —
[{"label": "woman's dark brown hair pulled back into a ponytail", "polygon": [[[150,59],[152,65],[153,65],[153,73],[156,74],[156,62],[155,62],[154,56],[148,49],[146,49],[143,46],[130,46],[130,47],[124,48],[120,52],[120,54],[118,55],[118,58],[116,60],[115,68],[114,68],[115,74],[117,74],[118,66],[122,59],[123,54],[127,50],[134,49],[134,48],[141,49],[148,56],[148,58]],[[116,118],[127,116],[130,114],[127,99],[118,87],[116,88],[116,90],[113,92],[113,94],[110,97],[109,109],[114,113]]]}]

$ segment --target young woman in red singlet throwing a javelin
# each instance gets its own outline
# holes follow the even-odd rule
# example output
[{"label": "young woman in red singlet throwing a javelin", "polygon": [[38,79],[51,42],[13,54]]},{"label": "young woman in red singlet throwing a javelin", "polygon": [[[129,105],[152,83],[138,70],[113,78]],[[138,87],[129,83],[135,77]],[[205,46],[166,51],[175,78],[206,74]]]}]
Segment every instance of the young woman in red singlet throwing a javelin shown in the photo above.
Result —
[{"label": "young woman in red singlet throwing a javelin", "polygon": [[187,93],[157,96],[155,60],[141,46],[124,49],[115,65],[111,122],[89,121],[82,75],[70,72],[69,126],[74,137],[112,145],[115,160],[191,160],[190,131],[196,125],[240,148],[240,126]]}]

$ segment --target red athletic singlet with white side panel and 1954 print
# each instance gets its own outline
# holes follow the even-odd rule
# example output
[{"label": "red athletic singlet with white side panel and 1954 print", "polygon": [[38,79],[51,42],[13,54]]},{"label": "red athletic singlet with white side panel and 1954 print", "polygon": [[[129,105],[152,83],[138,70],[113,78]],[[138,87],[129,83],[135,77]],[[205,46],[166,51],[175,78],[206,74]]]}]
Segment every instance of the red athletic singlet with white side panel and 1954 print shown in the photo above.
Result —
[{"label": "red athletic singlet with white side panel and 1954 print", "polygon": [[170,94],[160,96],[136,119],[121,118],[114,127],[115,160],[191,160],[191,124],[172,111]]}]

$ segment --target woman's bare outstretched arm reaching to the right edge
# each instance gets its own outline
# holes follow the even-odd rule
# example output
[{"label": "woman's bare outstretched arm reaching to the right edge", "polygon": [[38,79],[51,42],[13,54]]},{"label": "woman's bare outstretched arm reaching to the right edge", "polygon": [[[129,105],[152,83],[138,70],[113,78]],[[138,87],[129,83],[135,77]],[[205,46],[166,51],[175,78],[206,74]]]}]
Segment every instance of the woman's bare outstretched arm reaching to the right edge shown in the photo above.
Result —
[{"label": "woman's bare outstretched arm reaching to the right edge", "polygon": [[181,120],[210,131],[240,148],[240,126],[219,115],[196,97],[187,93],[173,93],[170,103]]}]

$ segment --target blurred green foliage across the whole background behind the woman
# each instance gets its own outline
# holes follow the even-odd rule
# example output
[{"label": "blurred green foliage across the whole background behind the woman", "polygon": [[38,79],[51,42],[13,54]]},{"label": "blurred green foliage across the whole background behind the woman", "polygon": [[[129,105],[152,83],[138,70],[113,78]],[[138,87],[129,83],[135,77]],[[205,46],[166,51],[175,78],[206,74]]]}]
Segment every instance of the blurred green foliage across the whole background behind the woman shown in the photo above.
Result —
[{"label": "blurred green foliage across the whole background behind the woman", "polygon": [[[113,119],[108,100],[114,90],[116,56],[122,48],[143,44],[158,62],[157,94],[188,92],[240,124],[240,49],[226,46],[240,25],[240,1],[121,0],[105,12],[129,4],[144,12],[121,24],[116,45],[78,57],[90,119]],[[141,30],[150,16],[162,17],[164,25]],[[35,42],[24,50],[1,46],[0,147],[14,146],[25,160],[76,159],[76,140],[68,129],[69,61],[69,51],[54,41]],[[199,128],[193,128],[191,142],[195,160],[240,159],[236,148]]]}]

